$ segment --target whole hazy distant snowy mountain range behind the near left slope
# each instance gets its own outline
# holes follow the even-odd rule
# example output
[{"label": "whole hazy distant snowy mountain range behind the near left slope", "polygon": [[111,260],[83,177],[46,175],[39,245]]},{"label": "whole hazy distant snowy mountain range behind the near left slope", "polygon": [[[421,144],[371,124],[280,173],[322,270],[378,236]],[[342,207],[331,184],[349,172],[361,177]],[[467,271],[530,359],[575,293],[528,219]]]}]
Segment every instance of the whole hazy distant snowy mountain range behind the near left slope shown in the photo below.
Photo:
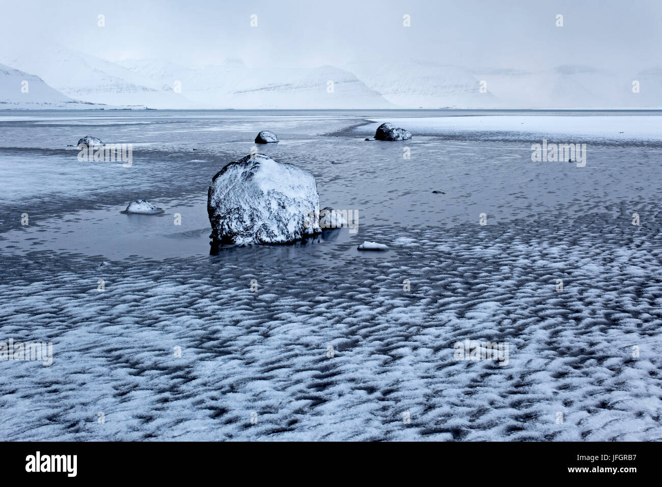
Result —
[{"label": "whole hazy distant snowy mountain range behind the near left slope", "polygon": [[375,57],[342,69],[253,68],[236,58],[191,68],[156,59],[109,62],[58,46],[0,54],[3,60],[73,99],[161,109],[662,107],[659,67],[626,76],[591,66],[471,70]]}]

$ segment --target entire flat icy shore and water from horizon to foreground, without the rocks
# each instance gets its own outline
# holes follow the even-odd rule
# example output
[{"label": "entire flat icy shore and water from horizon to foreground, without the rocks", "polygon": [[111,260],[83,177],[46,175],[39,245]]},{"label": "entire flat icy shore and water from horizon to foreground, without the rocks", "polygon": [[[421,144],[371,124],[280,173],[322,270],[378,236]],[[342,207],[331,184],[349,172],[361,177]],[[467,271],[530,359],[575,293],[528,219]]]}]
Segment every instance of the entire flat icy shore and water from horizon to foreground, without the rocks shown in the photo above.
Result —
[{"label": "entire flat icy shore and water from horizon to foreground, without the rocks", "polygon": [[[210,251],[260,130],[356,233]],[[662,440],[661,149],[660,111],[0,111],[0,342],[53,346],[0,360],[0,439]]]}]

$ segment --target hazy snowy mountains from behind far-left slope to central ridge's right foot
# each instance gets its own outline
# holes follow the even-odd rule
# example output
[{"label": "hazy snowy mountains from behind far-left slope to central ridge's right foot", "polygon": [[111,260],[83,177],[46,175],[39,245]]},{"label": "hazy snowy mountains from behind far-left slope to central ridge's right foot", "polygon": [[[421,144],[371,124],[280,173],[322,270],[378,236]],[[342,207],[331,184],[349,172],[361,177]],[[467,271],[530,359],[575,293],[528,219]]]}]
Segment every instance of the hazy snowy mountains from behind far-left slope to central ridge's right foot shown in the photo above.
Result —
[{"label": "hazy snowy mountains from behind far-left slope to central ridge's right foot", "polygon": [[351,72],[250,68],[230,58],[220,66],[187,68],[169,61],[109,62],[58,46],[5,56],[62,93],[112,105],[171,109],[389,108],[380,93]]}]

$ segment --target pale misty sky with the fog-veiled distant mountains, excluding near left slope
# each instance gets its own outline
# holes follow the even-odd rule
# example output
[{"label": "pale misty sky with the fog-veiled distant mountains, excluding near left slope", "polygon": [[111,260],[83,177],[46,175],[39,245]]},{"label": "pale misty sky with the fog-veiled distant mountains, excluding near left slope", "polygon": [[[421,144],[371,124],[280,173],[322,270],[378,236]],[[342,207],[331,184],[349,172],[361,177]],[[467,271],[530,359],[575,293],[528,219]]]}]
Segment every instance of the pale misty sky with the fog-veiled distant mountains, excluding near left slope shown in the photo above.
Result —
[{"label": "pale misty sky with the fog-veiled distant mountains, excluding near left slope", "polygon": [[[0,63],[91,103],[662,106],[662,3],[656,1],[66,5],[4,5]],[[21,94],[20,84],[2,86]]]}]

